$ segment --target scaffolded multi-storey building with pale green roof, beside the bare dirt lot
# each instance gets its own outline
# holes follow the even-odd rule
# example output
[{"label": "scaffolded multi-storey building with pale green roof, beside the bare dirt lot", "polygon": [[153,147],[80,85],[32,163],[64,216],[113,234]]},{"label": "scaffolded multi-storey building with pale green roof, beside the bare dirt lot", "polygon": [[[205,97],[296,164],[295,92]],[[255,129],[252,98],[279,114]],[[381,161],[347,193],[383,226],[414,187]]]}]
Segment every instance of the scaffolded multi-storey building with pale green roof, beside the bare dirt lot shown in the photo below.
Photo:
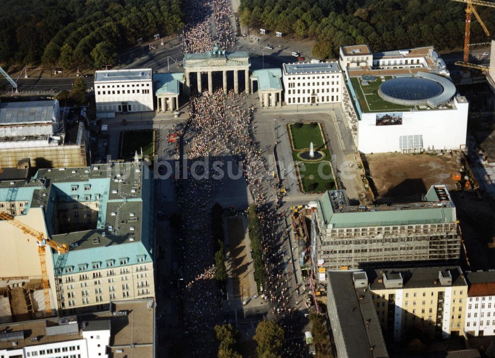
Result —
[{"label": "scaffolded multi-storey building with pale green roof, beside the bare dirt lot", "polygon": [[[311,220],[311,258],[329,269],[457,262],[460,234],[445,185],[433,185],[425,201],[352,206],[343,190],[327,191]],[[320,274],[320,281],[326,281]]]}]

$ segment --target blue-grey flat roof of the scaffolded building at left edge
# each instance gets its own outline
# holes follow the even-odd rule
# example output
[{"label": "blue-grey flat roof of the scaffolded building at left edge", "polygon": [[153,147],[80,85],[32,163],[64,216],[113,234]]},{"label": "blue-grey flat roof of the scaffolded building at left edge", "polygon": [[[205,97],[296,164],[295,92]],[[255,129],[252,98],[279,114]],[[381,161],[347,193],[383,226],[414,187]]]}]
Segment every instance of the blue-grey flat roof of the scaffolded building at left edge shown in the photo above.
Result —
[{"label": "blue-grey flat roof of the scaffolded building at left edge", "polygon": [[0,126],[53,122],[55,101],[0,103]]}]

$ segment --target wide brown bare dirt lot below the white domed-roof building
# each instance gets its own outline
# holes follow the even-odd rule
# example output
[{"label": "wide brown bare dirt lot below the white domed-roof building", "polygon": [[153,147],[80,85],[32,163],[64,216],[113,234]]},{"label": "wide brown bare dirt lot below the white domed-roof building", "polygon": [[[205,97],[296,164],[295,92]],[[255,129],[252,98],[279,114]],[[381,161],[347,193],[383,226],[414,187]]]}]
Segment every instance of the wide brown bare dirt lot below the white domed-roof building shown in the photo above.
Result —
[{"label": "wide brown bare dirt lot below the white domed-roof building", "polygon": [[420,201],[433,184],[446,184],[455,189],[452,174],[459,173],[460,162],[452,156],[428,154],[382,153],[361,155],[377,201]]}]

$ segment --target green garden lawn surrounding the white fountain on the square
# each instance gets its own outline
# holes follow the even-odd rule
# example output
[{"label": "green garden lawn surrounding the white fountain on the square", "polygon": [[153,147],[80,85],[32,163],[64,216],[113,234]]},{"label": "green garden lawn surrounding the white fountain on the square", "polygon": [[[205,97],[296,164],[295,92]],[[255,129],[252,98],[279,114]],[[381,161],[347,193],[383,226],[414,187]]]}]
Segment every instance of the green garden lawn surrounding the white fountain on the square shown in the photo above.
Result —
[{"label": "green garden lawn surrounding the white fountain on the square", "polygon": [[[314,126],[313,123],[304,123],[300,128],[297,128],[296,124],[290,124],[289,128],[292,134],[292,157],[299,169],[299,180],[303,192],[312,193],[336,189],[335,178],[332,175],[332,167],[329,161],[331,158],[330,151],[324,141],[320,126]],[[313,142],[315,149],[325,153],[325,160],[319,163],[305,163],[297,158],[299,150],[309,148],[310,142]],[[320,168],[321,175],[318,173],[318,168]],[[329,176],[331,178],[326,179]]]}]

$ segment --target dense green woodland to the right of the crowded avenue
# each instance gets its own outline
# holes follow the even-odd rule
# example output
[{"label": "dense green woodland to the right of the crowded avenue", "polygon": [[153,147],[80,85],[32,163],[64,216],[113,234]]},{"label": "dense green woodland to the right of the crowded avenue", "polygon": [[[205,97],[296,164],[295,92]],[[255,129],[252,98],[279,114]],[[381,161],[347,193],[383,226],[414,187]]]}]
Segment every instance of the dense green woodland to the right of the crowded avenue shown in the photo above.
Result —
[{"label": "dense green woodland to the right of the crowded avenue", "polygon": [[[478,6],[478,12],[492,31],[495,10]],[[449,0],[241,0],[239,13],[250,27],[315,39],[313,55],[321,58],[336,57],[341,45],[446,49],[464,39],[464,5]],[[485,41],[473,21],[471,42]]]}]

